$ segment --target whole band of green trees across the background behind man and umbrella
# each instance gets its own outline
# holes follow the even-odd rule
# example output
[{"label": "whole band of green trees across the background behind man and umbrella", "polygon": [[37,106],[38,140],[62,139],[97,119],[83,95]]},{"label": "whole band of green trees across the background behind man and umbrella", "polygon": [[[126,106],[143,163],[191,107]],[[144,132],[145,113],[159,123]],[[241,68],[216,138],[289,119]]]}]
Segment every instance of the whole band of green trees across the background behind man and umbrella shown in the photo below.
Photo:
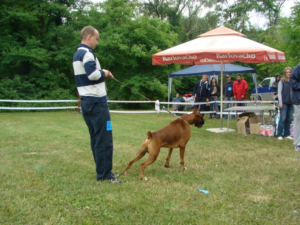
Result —
[{"label": "whole band of green trees across the background behind man and umbrella", "polygon": [[[107,0],[95,4],[84,0],[2,0],[0,99],[77,99],[72,59],[86,25],[100,33],[94,52],[102,68],[152,100],[167,100],[168,74],[185,66],[153,66],[151,55],[223,24],[286,53],[286,63],[236,62],[255,68],[260,82],[299,62],[299,2],[291,16],[281,17],[285,1]],[[251,24],[251,12],[266,19],[263,28]],[[244,78],[250,93],[252,76]],[[172,95],[191,93],[198,79],[174,79]],[[144,100],[113,80],[108,87],[110,100]]]}]

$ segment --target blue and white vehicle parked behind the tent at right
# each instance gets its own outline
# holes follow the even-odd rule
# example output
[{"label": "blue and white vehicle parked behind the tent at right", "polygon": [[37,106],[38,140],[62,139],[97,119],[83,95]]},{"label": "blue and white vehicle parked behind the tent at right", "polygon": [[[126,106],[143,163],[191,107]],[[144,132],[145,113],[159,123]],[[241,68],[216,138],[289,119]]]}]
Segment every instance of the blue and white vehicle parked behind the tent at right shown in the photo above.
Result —
[{"label": "blue and white vehicle parked behind the tent at right", "polygon": [[[257,85],[258,89],[258,100],[268,101],[274,100],[274,89],[272,88],[272,83],[275,81],[275,78],[266,78],[262,83]],[[253,101],[256,97],[255,88],[251,92],[250,99]]]}]

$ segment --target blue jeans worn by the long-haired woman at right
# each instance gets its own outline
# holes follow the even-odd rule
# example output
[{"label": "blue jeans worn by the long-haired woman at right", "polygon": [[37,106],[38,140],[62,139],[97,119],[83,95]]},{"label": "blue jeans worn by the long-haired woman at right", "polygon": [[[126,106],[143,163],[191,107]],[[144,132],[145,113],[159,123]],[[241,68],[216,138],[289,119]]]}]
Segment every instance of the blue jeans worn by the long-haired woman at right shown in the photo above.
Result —
[{"label": "blue jeans worn by the long-haired woman at right", "polygon": [[284,137],[288,137],[290,136],[290,127],[292,123],[294,107],[292,104],[282,104],[282,108],[280,108],[279,111],[280,118],[277,126],[277,136],[282,137],[284,126]]}]

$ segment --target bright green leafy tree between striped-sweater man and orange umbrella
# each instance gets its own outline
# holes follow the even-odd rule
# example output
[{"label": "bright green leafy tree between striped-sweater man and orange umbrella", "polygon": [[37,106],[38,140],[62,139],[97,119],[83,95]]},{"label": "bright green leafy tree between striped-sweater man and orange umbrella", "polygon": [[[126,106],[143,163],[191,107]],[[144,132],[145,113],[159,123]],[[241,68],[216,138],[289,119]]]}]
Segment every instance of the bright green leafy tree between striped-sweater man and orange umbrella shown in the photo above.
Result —
[{"label": "bright green leafy tree between striped-sweater man and orange umbrella", "polygon": [[[90,25],[100,34],[94,52],[101,67],[109,69],[117,80],[147,98],[162,101],[168,96],[168,74],[176,65],[153,66],[152,54],[172,47],[177,35],[168,22],[136,16],[135,8],[133,2],[108,0],[89,12],[93,14]],[[110,99],[144,100],[116,81],[109,80],[107,85]]]}]

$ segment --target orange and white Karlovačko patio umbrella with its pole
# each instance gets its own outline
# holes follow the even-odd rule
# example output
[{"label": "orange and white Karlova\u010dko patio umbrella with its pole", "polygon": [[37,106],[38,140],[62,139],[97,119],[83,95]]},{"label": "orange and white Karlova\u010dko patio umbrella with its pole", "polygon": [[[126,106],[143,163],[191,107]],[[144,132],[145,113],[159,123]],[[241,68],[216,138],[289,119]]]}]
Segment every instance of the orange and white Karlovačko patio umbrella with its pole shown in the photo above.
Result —
[{"label": "orange and white Karlova\u010dko patio umbrella with its pole", "polygon": [[[171,63],[200,65],[221,64],[221,115],[223,110],[223,63],[285,62],[285,54],[252,41],[242,33],[224,26],[203,33],[198,38],[152,55],[153,65]],[[255,85],[257,81],[255,77]],[[222,129],[222,117],[221,117]]]}]

